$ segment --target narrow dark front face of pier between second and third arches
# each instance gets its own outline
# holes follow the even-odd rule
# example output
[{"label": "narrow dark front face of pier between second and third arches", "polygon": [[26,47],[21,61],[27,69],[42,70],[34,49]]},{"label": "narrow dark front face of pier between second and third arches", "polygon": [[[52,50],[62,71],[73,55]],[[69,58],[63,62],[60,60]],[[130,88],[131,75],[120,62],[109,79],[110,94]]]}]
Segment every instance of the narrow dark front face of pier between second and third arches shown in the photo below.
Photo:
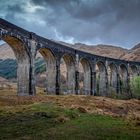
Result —
[{"label": "narrow dark front face of pier between second and third arches", "polygon": [[56,95],[60,94],[60,61],[56,60]]}]

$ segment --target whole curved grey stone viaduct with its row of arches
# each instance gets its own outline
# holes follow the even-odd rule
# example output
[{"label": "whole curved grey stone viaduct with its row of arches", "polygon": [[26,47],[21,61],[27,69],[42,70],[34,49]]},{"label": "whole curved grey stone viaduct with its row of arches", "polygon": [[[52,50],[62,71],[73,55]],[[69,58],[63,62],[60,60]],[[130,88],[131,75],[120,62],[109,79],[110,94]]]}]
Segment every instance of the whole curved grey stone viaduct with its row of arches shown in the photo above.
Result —
[{"label": "whole curved grey stone viaduct with its row of arches", "polygon": [[[34,62],[39,51],[46,62],[46,90],[48,94],[61,93],[60,63],[67,67],[67,93],[79,94],[79,63],[84,70],[85,95],[106,95],[109,87],[121,92],[121,82],[129,92],[130,79],[140,74],[140,62],[124,61],[93,55],[24,30],[0,19],[0,39],[12,48],[18,63],[18,95],[35,95]],[[98,70],[96,70],[98,67]],[[98,73],[98,74],[97,74]]]}]

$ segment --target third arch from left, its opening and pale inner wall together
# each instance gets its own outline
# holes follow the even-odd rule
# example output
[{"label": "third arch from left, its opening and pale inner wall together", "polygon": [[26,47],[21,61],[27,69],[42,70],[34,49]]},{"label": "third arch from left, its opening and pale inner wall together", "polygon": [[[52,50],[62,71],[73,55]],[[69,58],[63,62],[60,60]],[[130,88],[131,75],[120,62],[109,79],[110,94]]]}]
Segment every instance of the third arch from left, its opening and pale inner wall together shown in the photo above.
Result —
[{"label": "third arch from left, its opening and pale inner wall together", "polygon": [[[71,54],[64,54],[61,57],[60,61],[61,61],[61,64],[60,64],[60,73],[61,73],[60,93],[74,94],[75,93],[75,59]],[[65,67],[65,68],[62,68],[62,67]],[[65,72],[63,72],[62,69],[64,69]],[[64,76],[64,78],[65,78],[64,84],[62,84],[62,76]]]}]

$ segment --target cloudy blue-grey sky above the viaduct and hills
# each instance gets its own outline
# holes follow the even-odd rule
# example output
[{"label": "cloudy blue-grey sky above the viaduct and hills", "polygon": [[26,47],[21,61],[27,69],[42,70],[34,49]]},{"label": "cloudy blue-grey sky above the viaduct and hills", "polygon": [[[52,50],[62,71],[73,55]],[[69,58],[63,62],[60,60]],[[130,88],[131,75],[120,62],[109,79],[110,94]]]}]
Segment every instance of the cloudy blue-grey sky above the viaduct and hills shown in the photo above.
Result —
[{"label": "cloudy blue-grey sky above the viaduct and hills", "polygon": [[140,42],[140,0],[0,0],[0,17],[68,43]]}]

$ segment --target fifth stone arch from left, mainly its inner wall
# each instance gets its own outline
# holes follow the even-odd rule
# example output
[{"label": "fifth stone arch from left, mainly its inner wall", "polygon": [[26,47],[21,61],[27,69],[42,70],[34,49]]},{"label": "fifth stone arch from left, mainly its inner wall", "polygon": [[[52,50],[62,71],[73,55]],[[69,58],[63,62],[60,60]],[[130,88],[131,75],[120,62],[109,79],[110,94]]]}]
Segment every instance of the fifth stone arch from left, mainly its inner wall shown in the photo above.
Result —
[{"label": "fifth stone arch from left, mainly its inner wall", "polygon": [[97,95],[106,95],[107,93],[107,70],[104,62],[96,62],[96,80],[97,80]]}]

